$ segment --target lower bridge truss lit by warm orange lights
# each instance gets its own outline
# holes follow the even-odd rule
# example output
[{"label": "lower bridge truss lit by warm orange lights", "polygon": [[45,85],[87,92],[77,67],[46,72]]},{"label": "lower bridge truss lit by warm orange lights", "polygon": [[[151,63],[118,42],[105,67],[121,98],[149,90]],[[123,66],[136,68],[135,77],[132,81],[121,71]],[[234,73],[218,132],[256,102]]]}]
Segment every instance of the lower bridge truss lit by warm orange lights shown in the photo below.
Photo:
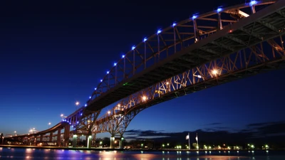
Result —
[{"label": "lower bridge truss lit by warm orange lights", "polygon": [[[281,64],[285,64],[285,51],[280,53],[279,50],[282,42],[282,38],[264,41],[140,90],[120,100],[110,112],[98,119],[97,125],[105,128],[105,132],[122,136],[131,119],[147,107],[225,82],[277,69]],[[273,45],[271,53],[264,52],[264,47]],[[128,117],[126,122],[124,117]],[[103,132],[103,129],[96,132]]]}]

